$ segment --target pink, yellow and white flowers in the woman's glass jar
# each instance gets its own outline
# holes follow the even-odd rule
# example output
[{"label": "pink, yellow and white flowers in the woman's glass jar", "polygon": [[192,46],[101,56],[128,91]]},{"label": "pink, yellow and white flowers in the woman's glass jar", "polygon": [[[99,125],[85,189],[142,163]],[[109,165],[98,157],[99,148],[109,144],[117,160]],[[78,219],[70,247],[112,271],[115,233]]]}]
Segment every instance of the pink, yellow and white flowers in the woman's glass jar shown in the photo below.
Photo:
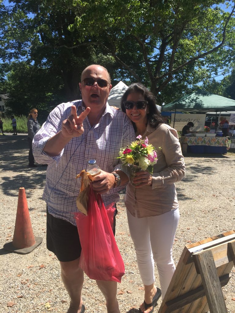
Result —
[{"label": "pink, yellow and white flowers in the woman's glass jar", "polygon": [[142,171],[147,170],[149,173],[153,173],[153,165],[157,162],[155,148],[149,144],[147,137],[145,140],[142,140],[141,135],[136,138],[136,141],[119,151],[117,158],[121,159],[124,165],[138,166]]}]

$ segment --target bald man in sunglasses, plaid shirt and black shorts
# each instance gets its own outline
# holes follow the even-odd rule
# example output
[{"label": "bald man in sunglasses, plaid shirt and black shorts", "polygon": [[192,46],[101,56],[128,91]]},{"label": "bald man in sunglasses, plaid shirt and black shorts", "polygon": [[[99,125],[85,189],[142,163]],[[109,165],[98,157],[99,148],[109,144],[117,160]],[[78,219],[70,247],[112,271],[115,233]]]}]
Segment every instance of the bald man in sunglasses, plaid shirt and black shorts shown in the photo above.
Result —
[{"label": "bald man in sunglasses, plaid shirt and black shorts", "polygon": [[[43,194],[48,210],[47,248],[60,261],[62,280],[70,296],[67,313],[85,311],[81,298],[83,271],[79,267],[81,245],[72,213],[77,211],[80,190],[76,174],[86,169],[90,159],[96,159],[102,172],[92,187],[103,194],[106,206],[117,202],[123,187],[115,186],[128,182],[126,169],[118,165],[118,152],[135,139],[127,116],[107,104],[112,88],[107,69],[88,66],[81,74],[79,87],[82,100],[58,105],[33,141],[35,160],[48,164]],[[120,313],[117,283],[97,281],[97,285],[106,299],[107,312]]]}]

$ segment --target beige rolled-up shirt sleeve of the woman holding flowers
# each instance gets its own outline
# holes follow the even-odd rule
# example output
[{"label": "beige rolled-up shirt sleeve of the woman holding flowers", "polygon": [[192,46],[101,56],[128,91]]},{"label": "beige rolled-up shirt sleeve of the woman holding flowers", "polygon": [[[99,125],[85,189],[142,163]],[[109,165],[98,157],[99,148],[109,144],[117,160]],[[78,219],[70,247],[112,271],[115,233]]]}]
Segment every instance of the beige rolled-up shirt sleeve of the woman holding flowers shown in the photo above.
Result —
[{"label": "beige rolled-up shirt sleeve of the woman holding flowers", "polygon": [[[185,176],[184,157],[175,129],[167,128],[162,131],[161,147],[158,149],[158,161],[156,166],[154,166],[152,177],[153,189],[172,185],[175,182],[179,182]],[[155,169],[159,167],[162,167],[162,169],[159,172],[155,172]]]}]

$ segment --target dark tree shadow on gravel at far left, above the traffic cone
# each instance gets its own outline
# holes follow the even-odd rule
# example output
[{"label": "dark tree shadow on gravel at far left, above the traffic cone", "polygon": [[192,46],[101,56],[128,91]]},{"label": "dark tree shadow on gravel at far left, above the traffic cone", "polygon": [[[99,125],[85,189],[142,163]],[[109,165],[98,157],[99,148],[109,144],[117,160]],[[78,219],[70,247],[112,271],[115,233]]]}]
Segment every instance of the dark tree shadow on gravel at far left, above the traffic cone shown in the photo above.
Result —
[{"label": "dark tree shadow on gravel at far left, above the traffic cone", "polygon": [[[16,138],[17,137],[17,138]],[[8,196],[18,197],[16,190],[24,187],[25,190],[44,187],[46,178],[46,167],[28,167],[28,141],[27,135],[1,136],[0,137],[0,171],[3,193]],[[11,177],[4,172],[19,173]],[[42,172],[43,171],[43,172]],[[29,172],[32,175],[29,176]],[[30,193],[27,193],[30,198]]]}]

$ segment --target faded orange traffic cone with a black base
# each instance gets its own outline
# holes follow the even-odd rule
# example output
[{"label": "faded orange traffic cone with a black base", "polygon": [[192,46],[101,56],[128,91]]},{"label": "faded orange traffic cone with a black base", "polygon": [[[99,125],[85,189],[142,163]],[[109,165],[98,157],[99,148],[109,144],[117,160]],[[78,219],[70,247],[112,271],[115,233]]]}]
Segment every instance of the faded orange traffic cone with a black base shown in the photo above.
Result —
[{"label": "faded orange traffic cone with a black base", "polygon": [[24,187],[20,187],[13,241],[4,244],[3,248],[15,253],[27,254],[41,242],[41,237],[34,237],[25,190]]}]

